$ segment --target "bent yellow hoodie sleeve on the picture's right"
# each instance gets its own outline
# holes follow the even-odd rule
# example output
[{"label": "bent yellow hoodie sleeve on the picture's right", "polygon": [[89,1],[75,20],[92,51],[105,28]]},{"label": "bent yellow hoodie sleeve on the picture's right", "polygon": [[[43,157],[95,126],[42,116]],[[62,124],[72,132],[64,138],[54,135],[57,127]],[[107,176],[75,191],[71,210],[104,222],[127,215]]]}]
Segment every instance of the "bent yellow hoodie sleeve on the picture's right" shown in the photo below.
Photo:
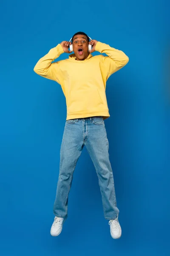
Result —
[{"label": "bent yellow hoodie sleeve on the picture's right", "polygon": [[129,61],[129,58],[127,57],[127,55],[125,55],[124,52],[113,47],[110,47],[108,44],[97,42],[95,49],[98,52],[105,53],[108,55],[102,56],[102,61],[104,63],[107,73],[107,79],[113,73],[124,67]]}]

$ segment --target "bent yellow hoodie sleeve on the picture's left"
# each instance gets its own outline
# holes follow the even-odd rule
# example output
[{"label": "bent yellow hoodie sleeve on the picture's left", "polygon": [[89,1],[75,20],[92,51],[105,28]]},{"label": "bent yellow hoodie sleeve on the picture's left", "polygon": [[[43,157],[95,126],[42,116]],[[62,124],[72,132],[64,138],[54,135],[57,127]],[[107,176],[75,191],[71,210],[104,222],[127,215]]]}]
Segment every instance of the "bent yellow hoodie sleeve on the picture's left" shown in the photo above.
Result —
[{"label": "bent yellow hoodie sleeve on the picture's left", "polygon": [[[34,67],[34,72],[47,79],[57,81],[59,83],[59,61],[53,62],[64,52],[61,44],[52,48],[44,57],[40,58]],[[59,83],[60,84],[60,83]]]}]

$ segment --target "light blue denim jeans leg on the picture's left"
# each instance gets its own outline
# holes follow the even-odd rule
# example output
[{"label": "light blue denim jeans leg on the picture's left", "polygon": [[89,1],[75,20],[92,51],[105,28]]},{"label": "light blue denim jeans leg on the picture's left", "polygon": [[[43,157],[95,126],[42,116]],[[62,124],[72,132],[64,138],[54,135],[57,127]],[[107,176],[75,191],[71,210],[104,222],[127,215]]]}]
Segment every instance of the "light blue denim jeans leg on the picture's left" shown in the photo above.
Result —
[{"label": "light blue denim jeans leg on the picture's left", "polygon": [[67,218],[68,195],[74,169],[83,149],[82,128],[78,122],[65,123],[60,149],[59,178],[53,212],[57,217]]}]

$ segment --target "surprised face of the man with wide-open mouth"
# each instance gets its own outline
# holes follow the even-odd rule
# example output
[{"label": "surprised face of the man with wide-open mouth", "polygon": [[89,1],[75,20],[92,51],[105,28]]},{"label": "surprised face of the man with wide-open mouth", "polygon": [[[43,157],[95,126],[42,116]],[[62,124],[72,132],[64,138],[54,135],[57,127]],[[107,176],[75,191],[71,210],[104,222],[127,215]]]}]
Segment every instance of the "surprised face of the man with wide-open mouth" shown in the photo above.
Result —
[{"label": "surprised face of the man with wide-open mouth", "polygon": [[88,57],[88,39],[85,35],[75,35],[73,38],[73,51],[78,61]]}]

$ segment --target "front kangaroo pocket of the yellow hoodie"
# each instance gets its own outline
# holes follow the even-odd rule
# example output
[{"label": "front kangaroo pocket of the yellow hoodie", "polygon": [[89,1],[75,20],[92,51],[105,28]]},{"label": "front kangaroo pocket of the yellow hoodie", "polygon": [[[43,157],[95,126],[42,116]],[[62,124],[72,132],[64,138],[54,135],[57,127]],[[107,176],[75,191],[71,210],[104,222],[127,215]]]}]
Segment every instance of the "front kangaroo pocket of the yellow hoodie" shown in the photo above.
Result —
[{"label": "front kangaroo pocket of the yellow hoodie", "polygon": [[103,101],[98,89],[71,90],[67,99],[68,113],[94,112],[102,109]]}]

